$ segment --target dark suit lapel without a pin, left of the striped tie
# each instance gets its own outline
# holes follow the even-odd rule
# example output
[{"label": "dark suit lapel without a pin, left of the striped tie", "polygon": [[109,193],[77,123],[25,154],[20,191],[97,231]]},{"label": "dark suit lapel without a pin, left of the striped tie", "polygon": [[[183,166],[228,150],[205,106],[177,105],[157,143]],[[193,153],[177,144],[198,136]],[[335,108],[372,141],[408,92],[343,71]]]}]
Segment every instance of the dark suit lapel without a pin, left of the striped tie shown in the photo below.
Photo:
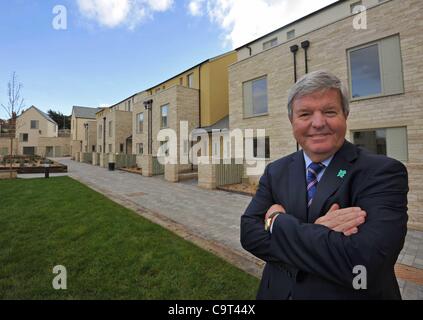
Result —
[{"label": "dark suit lapel without a pin, left of the striped tie", "polygon": [[302,222],[307,221],[307,191],[302,151],[295,153],[289,164],[289,207],[287,212],[292,212]]}]

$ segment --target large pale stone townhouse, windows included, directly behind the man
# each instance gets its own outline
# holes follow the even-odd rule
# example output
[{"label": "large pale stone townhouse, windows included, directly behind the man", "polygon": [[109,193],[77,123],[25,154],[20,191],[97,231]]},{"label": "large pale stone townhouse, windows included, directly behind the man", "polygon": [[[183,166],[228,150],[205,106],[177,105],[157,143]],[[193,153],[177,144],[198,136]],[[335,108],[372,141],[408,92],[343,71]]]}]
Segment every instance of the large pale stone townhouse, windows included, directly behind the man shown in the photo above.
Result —
[{"label": "large pale stone townhouse, windows included, directly behind the man", "polygon": [[[354,14],[357,5],[366,12]],[[266,129],[267,162],[290,154],[297,145],[289,88],[306,72],[336,74],[350,91],[347,139],[407,166],[409,223],[422,229],[422,47],[423,1],[335,2],[237,49],[229,68],[230,127]]]}]

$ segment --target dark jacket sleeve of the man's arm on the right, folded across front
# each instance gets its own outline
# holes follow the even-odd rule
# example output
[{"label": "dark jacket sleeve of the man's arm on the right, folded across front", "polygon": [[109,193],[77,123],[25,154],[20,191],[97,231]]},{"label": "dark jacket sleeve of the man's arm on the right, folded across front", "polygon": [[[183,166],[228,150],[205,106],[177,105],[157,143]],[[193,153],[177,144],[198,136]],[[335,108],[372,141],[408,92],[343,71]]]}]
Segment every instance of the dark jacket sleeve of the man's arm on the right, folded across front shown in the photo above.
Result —
[{"label": "dark jacket sleeve of the man's arm on the right, folded across front", "polygon": [[265,260],[287,263],[346,287],[352,287],[354,267],[364,266],[368,286],[377,283],[380,270],[394,265],[404,244],[408,178],[397,161],[373,169],[354,203],[367,212],[356,235],[346,237],[321,225],[301,223],[289,214],[279,215],[270,239],[260,246]]}]

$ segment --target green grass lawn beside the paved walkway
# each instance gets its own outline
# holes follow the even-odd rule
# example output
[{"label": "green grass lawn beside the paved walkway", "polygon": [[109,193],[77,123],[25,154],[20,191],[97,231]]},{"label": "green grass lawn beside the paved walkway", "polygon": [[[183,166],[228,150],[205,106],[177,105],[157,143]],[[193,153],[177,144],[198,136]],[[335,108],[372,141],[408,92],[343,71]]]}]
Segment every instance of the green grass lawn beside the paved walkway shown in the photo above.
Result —
[{"label": "green grass lawn beside the paved walkway", "polygon": [[[52,287],[67,269],[67,290]],[[254,299],[258,280],[68,177],[0,181],[0,299]]]}]

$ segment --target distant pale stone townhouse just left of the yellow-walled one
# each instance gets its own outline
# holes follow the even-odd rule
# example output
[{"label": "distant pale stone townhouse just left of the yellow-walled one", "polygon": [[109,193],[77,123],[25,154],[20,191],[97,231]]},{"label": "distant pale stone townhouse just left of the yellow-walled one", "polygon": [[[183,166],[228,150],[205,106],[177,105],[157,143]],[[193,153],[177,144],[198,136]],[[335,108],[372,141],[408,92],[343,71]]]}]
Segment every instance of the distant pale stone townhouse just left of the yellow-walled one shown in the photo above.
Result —
[{"label": "distant pale stone townhouse just left of the yellow-walled one", "polygon": [[132,110],[135,96],[96,113],[98,153],[132,154]]}]

